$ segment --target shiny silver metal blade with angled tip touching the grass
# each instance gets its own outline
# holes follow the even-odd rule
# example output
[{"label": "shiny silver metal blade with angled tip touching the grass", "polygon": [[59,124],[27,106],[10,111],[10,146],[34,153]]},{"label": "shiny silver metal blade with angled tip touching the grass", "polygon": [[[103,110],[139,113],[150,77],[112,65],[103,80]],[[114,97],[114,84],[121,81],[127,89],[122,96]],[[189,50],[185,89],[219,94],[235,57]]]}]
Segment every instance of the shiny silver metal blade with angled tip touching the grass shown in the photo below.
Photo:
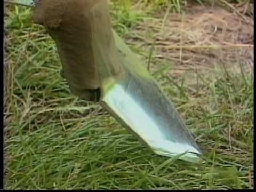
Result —
[{"label": "shiny silver metal blade with angled tip touching the grass", "polygon": [[126,76],[103,82],[101,106],[156,154],[172,157],[185,153],[180,159],[201,162],[201,150],[172,102],[136,55],[113,33]]}]

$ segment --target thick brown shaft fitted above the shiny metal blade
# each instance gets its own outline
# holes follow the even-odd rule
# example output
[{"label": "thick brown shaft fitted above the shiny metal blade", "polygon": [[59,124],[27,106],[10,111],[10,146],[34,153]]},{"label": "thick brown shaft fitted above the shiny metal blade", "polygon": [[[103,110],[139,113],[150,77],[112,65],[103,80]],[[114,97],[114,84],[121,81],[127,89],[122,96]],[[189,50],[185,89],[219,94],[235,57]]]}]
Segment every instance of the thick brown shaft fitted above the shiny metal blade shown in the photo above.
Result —
[{"label": "thick brown shaft fitted above the shiny metal blade", "polygon": [[122,74],[108,14],[107,0],[44,0],[35,7],[34,22],[54,39],[71,92],[85,100],[87,90],[102,91],[102,78]]}]

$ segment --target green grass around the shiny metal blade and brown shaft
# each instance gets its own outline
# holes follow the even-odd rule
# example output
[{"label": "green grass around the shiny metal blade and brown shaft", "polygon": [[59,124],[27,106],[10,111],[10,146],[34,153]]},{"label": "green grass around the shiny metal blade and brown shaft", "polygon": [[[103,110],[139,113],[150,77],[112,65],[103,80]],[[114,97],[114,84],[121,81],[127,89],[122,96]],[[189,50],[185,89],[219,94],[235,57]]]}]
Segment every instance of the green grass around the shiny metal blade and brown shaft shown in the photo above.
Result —
[{"label": "green grass around the shiny metal blade and brown shaft", "polygon": [[[122,36],[146,17],[129,6],[116,4],[113,11],[126,9],[113,21]],[[9,13],[13,81],[5,129],[6,189],[252,188],[252,71],[216,65],[178,80],[167,75],[169,68],[154,71],[205,149],[206,162],[191,164],[153,154],[109,114],[97,115],[97,105],[71,95],[44,28],[31,25],[25,7],[11,6]]]}]

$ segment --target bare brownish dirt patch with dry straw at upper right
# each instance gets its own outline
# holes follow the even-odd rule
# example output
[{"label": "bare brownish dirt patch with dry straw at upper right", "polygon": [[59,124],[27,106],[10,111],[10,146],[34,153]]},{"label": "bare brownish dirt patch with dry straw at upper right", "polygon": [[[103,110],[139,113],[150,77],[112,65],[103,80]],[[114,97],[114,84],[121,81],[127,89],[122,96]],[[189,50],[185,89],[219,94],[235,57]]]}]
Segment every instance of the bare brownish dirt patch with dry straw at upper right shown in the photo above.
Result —
[{"label": "bare brownish dirt patch with dry straw at upper right", "polygon": [[188,68],[209,69],[215,64],[253,68],[252,17],[202,6],[189,7],[180,15],[162,10],[153,17],[139,23],[127,38],[128,43],[140,44],[147,53],[155,41],[152,68],[159,68],[163,59],[174,62],[173,71],[178,74]]}]

